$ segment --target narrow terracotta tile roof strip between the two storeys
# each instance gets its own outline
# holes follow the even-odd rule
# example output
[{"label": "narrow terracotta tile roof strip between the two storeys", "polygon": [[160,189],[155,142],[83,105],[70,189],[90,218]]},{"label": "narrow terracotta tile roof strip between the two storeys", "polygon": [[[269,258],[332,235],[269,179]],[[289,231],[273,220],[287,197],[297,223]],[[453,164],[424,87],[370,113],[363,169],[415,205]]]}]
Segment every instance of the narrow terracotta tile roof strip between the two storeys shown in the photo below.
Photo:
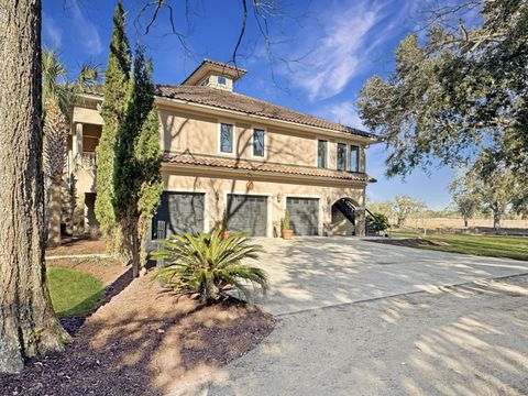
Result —
[{"label": "narrow terracotta tile roof strip between the two storeys", "polygon": [[165,163],[172,163],[172,164],[200,165],[200,166],[211,166],[211,167],[229,168],[229,169],[279,173],[279,174],[286,174],[286,175],[330,177],[336,179],[365,182],[365,183],[376,182],[375,178],[363,173],[338,172],[332,169],[320,169],[320,168],[308,167],[308,166],[283,165],[283,164],[276,164],[276,163],[261,163],[261,162],[246,161],[246,160],[208,157],[208,156],[199,156],[199,155],[191,155],[191,154],[165,153],[163,161]]}]

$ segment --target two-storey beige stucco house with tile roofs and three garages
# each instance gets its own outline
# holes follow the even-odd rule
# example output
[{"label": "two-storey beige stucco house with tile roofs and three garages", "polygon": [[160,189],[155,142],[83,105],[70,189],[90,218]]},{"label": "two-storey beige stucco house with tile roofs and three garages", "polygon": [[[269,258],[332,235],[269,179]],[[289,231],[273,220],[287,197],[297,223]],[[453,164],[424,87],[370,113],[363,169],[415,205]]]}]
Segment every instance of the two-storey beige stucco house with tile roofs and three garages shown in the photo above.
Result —
[{"label": "two-storey beige stucco house with tile roofs and three garages", "polygon": [[[156,86],[164,193],[152,238],[219,227],[274,237],[288,209],[295,235],[364,235],[365,150],[375,135],[234,91],[246,72],[204,61],[182,85]],[[69,172],[81,219],[94,213],[100,87],[74,109]]]}]

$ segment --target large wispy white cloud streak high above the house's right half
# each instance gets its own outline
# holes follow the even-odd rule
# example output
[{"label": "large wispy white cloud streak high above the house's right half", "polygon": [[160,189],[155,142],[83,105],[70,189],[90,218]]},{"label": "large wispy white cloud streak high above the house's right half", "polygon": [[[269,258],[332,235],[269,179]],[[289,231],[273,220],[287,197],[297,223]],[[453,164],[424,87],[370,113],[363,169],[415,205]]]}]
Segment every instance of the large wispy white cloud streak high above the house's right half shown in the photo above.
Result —
[{"label": "large wispy white cloud streak high above the house's right half", "polygon": [[334,4],[320,15],[319,24],[308,26],[310,34],[299,34],[305,36],[305,43],[295,53],[312,51],[300,61],[290,78],[294,85],[307,90],[310,100],[340,94],[367,69],[372,52],[393,37],[398,20],[414,1],[405,6],[369,0]]}]

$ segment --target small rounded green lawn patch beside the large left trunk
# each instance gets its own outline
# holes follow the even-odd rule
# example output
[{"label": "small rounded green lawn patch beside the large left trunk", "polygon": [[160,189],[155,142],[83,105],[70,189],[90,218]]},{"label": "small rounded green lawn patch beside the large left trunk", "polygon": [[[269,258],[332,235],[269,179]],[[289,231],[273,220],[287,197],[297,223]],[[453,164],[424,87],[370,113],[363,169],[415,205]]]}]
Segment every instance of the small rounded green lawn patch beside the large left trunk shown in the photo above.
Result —
[{"label": "small rounded green lawn patch beside the large left trunk", "polygon": [[47,283],[59,317],[87,315],[105,292],[105,285],[95,276],[65,267],[50,267]]}]

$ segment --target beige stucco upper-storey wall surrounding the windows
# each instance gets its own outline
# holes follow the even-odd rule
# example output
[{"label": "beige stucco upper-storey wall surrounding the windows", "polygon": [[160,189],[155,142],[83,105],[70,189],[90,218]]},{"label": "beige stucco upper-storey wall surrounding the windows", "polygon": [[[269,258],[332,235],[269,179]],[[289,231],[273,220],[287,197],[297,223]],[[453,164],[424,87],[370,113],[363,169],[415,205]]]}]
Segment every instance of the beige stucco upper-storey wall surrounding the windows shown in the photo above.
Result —
[{"label": "beige stucco upper-storey wall surrounding the windows", "polygon": [[[321,136],[316,133],[299,132],[267,127],[265,123],[246,123],[233,118],[217,118],[199,113],[183,113],[176,110],[161,109],[161,144],[164,151],[190,152],[202,155],[220,155],[232,158],[265,161],[301,166],[317,166],[317,141],[328,141],[328,168],[337,167],[337,143],[354,144],[360,150],[360,172],[365,169],[364,145],[353,136],[340,139]],[[220,152],[220,123],[234,125],[232,154]],[[265,155],[253,156],[253,130],[265,130]]]}]

